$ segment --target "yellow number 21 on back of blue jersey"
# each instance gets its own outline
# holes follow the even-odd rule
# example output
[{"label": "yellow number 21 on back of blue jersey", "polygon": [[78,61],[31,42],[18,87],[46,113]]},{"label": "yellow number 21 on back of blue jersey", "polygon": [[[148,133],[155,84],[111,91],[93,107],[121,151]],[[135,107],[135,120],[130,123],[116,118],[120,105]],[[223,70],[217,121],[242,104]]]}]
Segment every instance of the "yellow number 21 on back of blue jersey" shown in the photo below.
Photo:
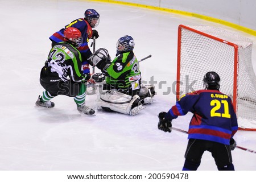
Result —
[{"label": "yellow number 21 on back of blue jersey", "polygon": [[[210,117],[224,117],[230,118],[229,114],[229,104],[226,100],[212,100],[210,101],[210,105],[214,106],[212,110],[210,110]],[[224,113],[219,113],[218,110],[220,109],[221,105],[224,106]]]}]

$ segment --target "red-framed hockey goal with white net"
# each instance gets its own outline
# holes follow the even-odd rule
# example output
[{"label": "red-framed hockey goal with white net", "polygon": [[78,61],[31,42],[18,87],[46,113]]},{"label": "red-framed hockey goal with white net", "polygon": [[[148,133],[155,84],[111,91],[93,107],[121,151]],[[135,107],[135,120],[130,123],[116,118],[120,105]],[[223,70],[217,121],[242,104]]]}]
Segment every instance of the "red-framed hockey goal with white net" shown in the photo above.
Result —
[{"label": "red-framed hockey goal with white net", "polygon": [[238,127],[256,131],[256,77],[251,63],[253,42],[210,26],[179,26],[177,99],[203,89],[209,71],[221,78],[220,91],[233,99]]}]

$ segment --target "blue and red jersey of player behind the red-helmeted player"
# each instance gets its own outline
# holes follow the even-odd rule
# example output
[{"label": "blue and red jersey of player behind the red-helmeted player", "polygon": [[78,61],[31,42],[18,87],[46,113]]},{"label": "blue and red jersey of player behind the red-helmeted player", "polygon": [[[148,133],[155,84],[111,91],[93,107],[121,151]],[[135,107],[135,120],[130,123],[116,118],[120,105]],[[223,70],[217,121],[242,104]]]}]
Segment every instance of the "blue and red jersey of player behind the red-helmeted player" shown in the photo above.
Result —
[{"label": "blue and red jersey of player behind the red-helmeted player", "polygon": [[[90,27],[89,23],[84,18],[73,20],[73,22],[65,26],[65,28],[68,27],[75,27],[78,30],[80,30],[82,34],[82,44],[77,49],[79,50],[82,56],[82,65],[84,68],[84,73],[90,73],[89,62],[87,58],[90,55],[92,55],[92,52],[90,51],[88,46],[89,39],[92,37],[92,27]],[[49,39],[52,42],[56,43],[64,42],[65,40],[63,33],[65,28],[62,28],[61,30],[55,32],[52,36],[49,37]]]}]

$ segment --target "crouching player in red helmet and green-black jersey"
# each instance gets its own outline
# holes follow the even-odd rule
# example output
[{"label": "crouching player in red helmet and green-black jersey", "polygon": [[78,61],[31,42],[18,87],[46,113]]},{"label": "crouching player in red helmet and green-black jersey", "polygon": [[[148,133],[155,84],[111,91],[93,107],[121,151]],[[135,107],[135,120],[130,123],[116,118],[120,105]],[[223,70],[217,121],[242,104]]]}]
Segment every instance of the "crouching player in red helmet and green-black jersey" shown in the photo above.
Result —
[{"label": "crouching player in red helmet and green-black jersey", "polygon": [[81,32],[69,27],[64,31],[65,42],[56,43],[49,52],[48,59],[40,73],[40,84],[44,92],[39,96],[36,106],[51,108],[55,104],[50,100],[58,95],[73,97],[80,113],[92,115],[93,109],[85,106],[85,82],[90,74],[82,70],[81,54],[77,47],[81,45]]}]

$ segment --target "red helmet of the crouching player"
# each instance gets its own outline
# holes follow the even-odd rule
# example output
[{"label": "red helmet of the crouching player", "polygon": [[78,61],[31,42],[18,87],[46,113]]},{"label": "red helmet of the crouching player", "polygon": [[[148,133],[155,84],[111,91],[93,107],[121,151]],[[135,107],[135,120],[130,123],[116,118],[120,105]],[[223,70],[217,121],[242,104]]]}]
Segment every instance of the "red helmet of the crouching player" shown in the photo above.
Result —
[{"label": "red helmet of the crouching player", "polygon": [[68,27],[64,30],[64,38],[76,48],[82,44],[81,32],[77,28]]}]

